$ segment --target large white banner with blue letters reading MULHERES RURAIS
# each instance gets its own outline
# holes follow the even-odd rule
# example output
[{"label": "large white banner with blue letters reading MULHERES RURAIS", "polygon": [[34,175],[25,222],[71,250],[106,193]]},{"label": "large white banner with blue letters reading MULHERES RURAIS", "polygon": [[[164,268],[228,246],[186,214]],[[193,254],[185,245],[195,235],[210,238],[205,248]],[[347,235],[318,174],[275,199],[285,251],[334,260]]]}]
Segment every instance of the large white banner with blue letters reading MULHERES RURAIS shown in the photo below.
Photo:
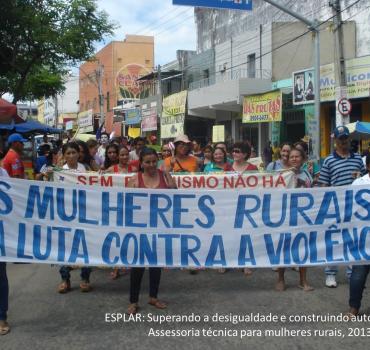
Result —
[{"label": "large white banner with blue letters reading MULHERES RURAIS", "polygon": [[370,189],[148,190],[0,181],[0,261],[270,267],[368,263]]}]

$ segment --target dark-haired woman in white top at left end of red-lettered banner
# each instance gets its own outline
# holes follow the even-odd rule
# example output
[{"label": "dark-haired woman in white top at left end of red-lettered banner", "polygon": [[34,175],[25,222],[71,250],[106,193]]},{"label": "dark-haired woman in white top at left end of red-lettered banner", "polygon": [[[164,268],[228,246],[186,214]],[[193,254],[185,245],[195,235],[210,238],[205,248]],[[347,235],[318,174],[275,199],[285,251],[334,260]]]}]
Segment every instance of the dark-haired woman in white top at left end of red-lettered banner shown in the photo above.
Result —
[{"label": "dark-haired woman in white top at left end of red-lettered banner", "polygon": [[[77,172],[86,171],[85,166],[78,162],[79,156],[80,156],[80,148],[76,142],[68,142],[64,144],[62,147],[62,154],[66,162],[63,165],[64,170],[77,171]],[[61,294],[65,294],[71,290],[71,280],[70,280],[71,270],[72,270],[72,267],[65,266],[65,265],[61,266],[59,269],[62,282],[58,286],[58,292]],[[80,283],[81,292],[90,292],[91,290],[90,274],[91,274],[90,267],[81,268],[81,280],[82,280]]]}]

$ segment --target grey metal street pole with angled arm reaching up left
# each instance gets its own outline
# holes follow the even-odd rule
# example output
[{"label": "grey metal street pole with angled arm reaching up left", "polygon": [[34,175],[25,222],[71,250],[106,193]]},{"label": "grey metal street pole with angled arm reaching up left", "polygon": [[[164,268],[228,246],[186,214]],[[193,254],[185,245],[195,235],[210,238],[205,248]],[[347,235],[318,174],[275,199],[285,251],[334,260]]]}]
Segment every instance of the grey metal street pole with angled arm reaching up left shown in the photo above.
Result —
[{"label": "grey metal street pole with angled arm reaching up left", "polygon": [[309,20],[299,13],[292,11],[290,8],[285,7],[284,5],[279,4],[275,0],[264,0],[270,5],[277,7],[279,10],[291,15],[292,17],[298,19],[299,21],[305,23],[308,26],[308,29],[311,30],[315,36],[315,121],[317,124],[316,132],[316,147],[314,152],[314,158],[320,160],[320,30],[319,30],[319,21],[318,20]]}]

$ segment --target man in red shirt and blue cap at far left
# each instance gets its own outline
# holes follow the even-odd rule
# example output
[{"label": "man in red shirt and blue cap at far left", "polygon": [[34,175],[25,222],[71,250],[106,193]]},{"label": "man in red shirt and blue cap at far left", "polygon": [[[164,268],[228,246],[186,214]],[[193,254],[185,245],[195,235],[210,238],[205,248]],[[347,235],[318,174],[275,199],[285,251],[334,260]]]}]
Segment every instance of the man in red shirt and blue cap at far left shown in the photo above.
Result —
[{"label": "man in red shirt and blue cap at far left", "polygon": [[12,134],[8,137],[10,149],[3,160],[3,168],[10,177],[24,179],[24,166],[21,160],[24,142],[27,140],[21,134]]}]

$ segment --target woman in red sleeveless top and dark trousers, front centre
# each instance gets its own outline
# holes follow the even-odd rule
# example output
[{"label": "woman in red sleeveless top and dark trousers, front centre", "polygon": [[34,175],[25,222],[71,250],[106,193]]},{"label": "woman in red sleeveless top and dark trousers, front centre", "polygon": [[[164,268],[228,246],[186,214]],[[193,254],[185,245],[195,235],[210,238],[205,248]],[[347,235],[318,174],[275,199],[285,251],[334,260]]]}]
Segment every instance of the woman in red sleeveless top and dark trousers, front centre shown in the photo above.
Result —
[{"label": "woman in red sleeveless top and dark trousers, front centre", "polygon": [[[131,188],[167,189],[176,188],[171,175],[157,169],[158,155],[154,149],[144,148],[140,153],[140,171],[128,183]],[[144,267],[131,268],[130,274],[130,304],[128,314],[136,314],[139,308],[141,281],[145,272]],[[161,268],[149,267],[149,305],[157,309],[165,309],[167,304],[158,300],[158,289],[161,280]]]}]

